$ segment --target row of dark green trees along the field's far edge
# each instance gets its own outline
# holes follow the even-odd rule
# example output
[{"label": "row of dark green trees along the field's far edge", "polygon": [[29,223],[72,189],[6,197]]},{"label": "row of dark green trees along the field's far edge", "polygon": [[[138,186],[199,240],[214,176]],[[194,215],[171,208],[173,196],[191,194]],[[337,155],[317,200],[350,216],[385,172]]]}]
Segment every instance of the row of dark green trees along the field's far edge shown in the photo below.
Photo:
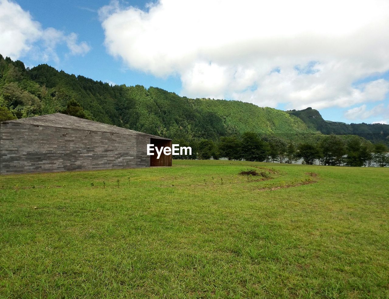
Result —
[{"label": "row of dark green trees along the field's far edge", "polygon": [[384,143],[372,144],[359,136],[321,136],[319,139],[294,143],[273,135],[255,132],[224,136],[219,141],[199,139],[190,143],[173,139],[180,146],[191,146],[191,156],[175,159],[221,159],[252,162],[296,163],[321,165],[385,167],[389,166],[389,149]]}]

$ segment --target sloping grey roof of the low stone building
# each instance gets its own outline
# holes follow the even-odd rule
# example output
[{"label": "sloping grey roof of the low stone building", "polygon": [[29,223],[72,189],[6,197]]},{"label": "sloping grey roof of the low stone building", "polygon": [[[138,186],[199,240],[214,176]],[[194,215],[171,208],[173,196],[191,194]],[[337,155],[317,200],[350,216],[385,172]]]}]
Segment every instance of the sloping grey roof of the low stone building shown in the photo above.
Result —
[{"label": "sloping grey roof of the low stone building", "polygon": [[17,120],[7,120],[3,123],[21,123],[26,125],[38,125],[42,127],[58,127],[63,129],[74,129],[104,133],[114,133],[123,135],[141,135],[150,138],[167,139],[160,136],[146,134],[134,130],[124,129],[116,127],[114,125],[107,125],[106,123],[94,122],[93,120],[87,120],[62,113],[54,113],[40,116],[33,116],[27,118],[20,118]]}]

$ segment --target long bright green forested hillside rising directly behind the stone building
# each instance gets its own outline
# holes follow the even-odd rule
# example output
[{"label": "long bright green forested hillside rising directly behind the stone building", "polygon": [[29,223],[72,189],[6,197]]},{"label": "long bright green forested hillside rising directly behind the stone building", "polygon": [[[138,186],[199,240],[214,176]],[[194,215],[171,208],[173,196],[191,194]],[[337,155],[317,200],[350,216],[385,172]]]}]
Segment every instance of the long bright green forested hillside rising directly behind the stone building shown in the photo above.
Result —
[{"label": "long bright green forested hillside rising directly behind the stone building", "polygon": [[29,70],[23,62],[0,55],[0,120],[63,111],[175,140],[216,140],[247,131],[295,141],[321,135],[321,129],[309,117],[299,115],[300,111],[287,113],[240,101],[189,99],[141,85],[111,86],[47,64]]}]

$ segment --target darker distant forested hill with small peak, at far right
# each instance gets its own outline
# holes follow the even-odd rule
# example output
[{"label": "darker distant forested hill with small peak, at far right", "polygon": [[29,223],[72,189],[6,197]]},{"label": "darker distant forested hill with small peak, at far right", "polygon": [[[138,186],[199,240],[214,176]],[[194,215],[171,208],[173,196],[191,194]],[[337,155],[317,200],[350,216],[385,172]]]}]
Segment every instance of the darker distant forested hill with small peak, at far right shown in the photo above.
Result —
[{"label": "darker distant forested hill with small peak, at far right", "polygon": [[287,111],[300,118],[310,129],[322,134],[358,135],[372,142],[389,141],[389,125],[380,123],[343,123],[324,120],[319,111],[308,107],[304,110]]}]

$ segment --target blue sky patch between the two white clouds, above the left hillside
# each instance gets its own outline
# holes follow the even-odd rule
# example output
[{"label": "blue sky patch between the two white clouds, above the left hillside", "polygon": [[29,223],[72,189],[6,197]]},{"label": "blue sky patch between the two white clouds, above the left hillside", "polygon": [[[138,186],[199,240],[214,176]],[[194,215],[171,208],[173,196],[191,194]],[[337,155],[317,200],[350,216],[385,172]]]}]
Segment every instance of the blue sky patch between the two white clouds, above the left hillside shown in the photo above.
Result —
[{"label": "blue sky patch between the two white clouds, above the left hillside", "polygon": [[[121,59],[107,54],[104,46],[104,31],[98,17],[98,9],[109,4],[109,1],[18,1],[19,5],[28,10],[33,19],[39,21],[44,28],[53,27],[67,33],[77,33],[79,40],[90,45],[91,50],[84,56],[63,55],[59,63],[47,61],[56,69],[67,73],[83,75],[94,80],[113,82],[126,85],[154,86],[179,92],[179,78],[166,79],[147,75],[143,71],[131,70]],[[131,5],[144,9],[145,1],[131,1]],[[61,45],[58,52],[66,54],[66,45]],[[31,59],[28,55],[21,57],[26,65],[34,66],[42,63]]]}]

